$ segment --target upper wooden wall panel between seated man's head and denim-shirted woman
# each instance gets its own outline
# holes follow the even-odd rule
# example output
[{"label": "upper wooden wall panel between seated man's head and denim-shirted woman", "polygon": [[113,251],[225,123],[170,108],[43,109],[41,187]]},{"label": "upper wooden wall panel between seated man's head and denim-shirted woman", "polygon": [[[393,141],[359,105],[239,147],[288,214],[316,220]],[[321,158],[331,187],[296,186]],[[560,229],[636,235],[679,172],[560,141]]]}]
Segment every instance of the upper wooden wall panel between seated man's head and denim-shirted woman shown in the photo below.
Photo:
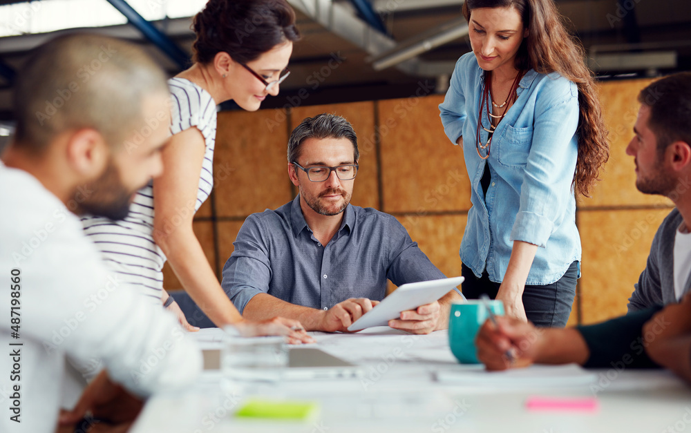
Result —
[{"label": "upper wooden wall panel between seated man's head and denim-shirted woman", "polygon": [[379,102],[384,211],[427,213],[471,206],[463,153],[444,134],[444,97]]}]

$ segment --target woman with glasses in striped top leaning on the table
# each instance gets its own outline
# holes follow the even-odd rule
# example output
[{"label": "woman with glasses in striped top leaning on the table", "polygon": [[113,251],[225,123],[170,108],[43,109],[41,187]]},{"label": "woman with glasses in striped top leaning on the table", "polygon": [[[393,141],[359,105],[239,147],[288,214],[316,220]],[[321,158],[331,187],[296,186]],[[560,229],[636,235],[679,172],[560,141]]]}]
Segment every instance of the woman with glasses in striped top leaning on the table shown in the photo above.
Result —
[{"label": "woman with glasses in striped top leaning on the table", "polygon": [[163,302],[188,329],[180,308],[163,289],[166,260],[219,327],[234,324],[245,335],[287,334],[294,342],[309,340],[295,320],[243,320],[192,230],[194,213],[214,184],[216,105],[233,100],[254,111],[267,95],[278,95],[299,39],[294,21],[285,0],[210,0],[193,19],[193,65],[169,80],[172,137],[162,152],[164,173],[138,191],[126,220],[83,220],[86,234],[120,279],[140,287],[158,305]]}]

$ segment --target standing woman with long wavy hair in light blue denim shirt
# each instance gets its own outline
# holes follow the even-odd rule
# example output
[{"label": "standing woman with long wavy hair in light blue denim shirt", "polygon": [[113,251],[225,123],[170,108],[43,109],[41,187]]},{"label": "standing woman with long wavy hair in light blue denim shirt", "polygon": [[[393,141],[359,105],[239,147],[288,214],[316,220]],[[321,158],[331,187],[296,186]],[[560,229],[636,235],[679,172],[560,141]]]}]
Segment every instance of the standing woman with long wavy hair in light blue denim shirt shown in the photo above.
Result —
[{"label": "standing woman with long wavy hair in light blue denim shirt", "polygon": [[580,276],[576,193],[609,156],[594,79],[552,0],[466,0],[463,14],[473,52],[439,105],[472,186],[463,293],[564,327]]}]

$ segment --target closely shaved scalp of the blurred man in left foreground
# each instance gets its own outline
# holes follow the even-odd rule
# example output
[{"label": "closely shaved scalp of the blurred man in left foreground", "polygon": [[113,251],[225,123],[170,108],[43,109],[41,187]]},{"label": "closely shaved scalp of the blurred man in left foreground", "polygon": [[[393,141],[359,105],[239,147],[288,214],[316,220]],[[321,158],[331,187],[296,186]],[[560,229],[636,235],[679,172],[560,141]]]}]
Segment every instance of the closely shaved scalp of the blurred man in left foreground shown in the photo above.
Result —
[{"label": "closely shaved scalp of the blurred man in left foreground", "polygon": [[140,48],[97,35],[58,37],[17,75],[15,146],[43,152],[59,134],[93,128],[112,151],[146,128],[142,102],[168,93],[163,71]]}]

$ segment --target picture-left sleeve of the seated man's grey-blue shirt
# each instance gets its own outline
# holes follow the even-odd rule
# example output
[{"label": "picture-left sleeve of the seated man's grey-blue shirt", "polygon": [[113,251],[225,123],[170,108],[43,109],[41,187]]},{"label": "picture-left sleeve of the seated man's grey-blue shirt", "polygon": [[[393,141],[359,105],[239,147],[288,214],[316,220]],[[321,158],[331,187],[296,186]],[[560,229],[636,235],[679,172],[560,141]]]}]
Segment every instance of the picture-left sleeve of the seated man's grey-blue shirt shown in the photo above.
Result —
[{"label": "picture-left sleeve of the seated man's grey-blue shirt", "polygon": [[265,239],[261,222],[249,215],[233,242],[235,251],[223,267],[221,286],[240,314],[254,296],[269,291],[271,266]]}]

